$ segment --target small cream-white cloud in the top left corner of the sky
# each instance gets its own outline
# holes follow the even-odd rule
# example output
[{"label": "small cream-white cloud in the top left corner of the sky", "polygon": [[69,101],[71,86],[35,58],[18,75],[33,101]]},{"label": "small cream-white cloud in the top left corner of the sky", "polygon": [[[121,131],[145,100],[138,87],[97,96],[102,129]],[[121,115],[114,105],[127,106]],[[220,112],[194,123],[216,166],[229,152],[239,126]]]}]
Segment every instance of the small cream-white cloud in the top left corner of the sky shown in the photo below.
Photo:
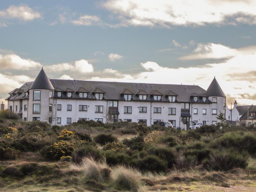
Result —
[{"label": "small cream-white cloud in the top left corner of the sky", "polygon": [[41,13],[33,10],[27,5],[11,5],[6,10],[0,11],[0,18],[19,19],[23,21],[31,21],[41,18]]}]

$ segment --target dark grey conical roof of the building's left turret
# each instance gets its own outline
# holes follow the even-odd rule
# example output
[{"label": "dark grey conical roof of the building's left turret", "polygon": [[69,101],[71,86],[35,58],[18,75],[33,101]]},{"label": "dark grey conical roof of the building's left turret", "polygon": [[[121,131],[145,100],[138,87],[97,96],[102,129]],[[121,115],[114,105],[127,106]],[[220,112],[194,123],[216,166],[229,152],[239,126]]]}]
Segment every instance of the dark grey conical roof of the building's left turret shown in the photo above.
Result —
[{"label": "dark grey conical roof of the building's left turret", "polygon": [[48,79],[44,69],[39,72],[37,78],[35,78],[33,84],[31,85],[30,89],[50,89],[54,90],[52,83]]}]

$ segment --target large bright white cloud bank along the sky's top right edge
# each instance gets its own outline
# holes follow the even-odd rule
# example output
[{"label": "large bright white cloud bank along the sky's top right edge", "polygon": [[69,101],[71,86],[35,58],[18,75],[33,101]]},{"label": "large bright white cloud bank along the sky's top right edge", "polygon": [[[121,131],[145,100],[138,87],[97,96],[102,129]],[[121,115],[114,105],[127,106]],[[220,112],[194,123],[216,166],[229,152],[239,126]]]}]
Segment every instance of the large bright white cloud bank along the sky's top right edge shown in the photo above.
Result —
[{"label": "large bright white cloud bank along the sky's top right edge", "polygon": [[256,24],[255,0],[108,0],[103,7],[123,26]]}]

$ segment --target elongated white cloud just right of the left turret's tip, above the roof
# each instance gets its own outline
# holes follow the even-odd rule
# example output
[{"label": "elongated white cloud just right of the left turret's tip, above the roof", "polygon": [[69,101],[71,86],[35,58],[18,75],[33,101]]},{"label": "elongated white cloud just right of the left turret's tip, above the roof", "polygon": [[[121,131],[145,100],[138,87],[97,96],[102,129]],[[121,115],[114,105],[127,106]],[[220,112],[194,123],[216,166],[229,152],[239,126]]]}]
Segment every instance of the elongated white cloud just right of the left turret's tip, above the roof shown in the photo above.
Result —
[{"label": "elongated white cloud just right of the left turret's tip, above the roof", "polygon": [[48,65],[45,66],[45,68],[53,72],[75,71],[82,74],[93,72],[93,65],[84,59],[75,61],[75,63],[60,63]]}]

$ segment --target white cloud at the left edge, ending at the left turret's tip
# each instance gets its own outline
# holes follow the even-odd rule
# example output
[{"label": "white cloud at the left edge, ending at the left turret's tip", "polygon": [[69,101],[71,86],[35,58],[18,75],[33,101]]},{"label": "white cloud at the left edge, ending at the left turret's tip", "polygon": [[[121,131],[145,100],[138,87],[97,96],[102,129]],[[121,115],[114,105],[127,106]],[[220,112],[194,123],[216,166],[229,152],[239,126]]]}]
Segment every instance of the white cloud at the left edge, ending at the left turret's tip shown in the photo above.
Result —
[{"label": "white cloud at the left edge, ending at the left turret's tip", "polygon": [[31,70],[39,67],[42,65],[31,59],[23,59],[16,54],[0,54],[0,68],[2,69]]}]

